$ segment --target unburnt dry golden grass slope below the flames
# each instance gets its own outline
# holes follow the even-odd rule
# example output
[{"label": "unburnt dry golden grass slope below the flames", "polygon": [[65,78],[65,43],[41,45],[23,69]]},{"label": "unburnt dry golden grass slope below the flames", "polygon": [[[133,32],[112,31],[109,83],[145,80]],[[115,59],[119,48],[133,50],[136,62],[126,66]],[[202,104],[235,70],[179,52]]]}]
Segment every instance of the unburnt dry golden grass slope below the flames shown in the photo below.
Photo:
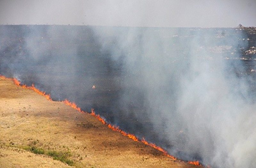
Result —
[{"label": "unburnt dry golden grass slope below the flames", "polygon": [[0,78],[0,167],[196,167]]}]

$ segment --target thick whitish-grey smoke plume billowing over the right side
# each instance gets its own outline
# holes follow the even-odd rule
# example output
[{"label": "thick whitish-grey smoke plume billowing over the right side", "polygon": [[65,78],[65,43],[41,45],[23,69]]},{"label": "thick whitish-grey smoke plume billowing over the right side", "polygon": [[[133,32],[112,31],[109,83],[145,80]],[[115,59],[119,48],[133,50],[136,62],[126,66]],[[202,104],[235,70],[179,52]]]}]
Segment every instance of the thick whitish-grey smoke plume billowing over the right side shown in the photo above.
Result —
[{"label": "thick whitish-grey smoke plume billowing over the right side", "polygon": [[[213,167],[253,167],[255,97],[250,96],[250,76],[245,75],[238,50],[246,42],[235,32],[218,46],[216,31],[204,31],[196,29],[194,35],[191,31],[189,38],[182,29],[95,32],[114,60],[124,58],[124,67],[132,76],[124,83],[145,95],[146,116],[159,138],[174,146],[169,148],[171,154],[199,157]],[[234,65],[225,59],[227,51],[213,54],[218,47],[236,50],[234,55],[229,51],[231,59],[238,59]],[[134,97],[134,92],[124,92],[120,104],[128,109]]]}]

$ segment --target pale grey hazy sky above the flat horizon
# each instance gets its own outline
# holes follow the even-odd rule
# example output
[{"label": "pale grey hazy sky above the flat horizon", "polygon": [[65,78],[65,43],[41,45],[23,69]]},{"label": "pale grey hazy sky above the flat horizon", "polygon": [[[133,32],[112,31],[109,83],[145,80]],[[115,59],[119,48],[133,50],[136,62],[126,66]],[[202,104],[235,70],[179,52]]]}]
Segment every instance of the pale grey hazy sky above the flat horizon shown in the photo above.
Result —
[{"label": "pale grey hazy sky above the flat horizon", "polygon": [[0,24],[256,26],[255,0],[0,0]]}]

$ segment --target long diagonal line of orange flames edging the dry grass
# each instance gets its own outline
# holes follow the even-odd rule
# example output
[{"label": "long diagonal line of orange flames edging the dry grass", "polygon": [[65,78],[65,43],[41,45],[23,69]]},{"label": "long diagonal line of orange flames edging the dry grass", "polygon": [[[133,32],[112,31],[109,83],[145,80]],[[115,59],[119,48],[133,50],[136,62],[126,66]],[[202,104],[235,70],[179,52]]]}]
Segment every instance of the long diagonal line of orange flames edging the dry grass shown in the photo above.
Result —
[{"label": "long diagonal line of orange flames edging the dry grass", "polygon": [[[50,94],[45,94],[45,92],[43,92],[43,91],[37,89],[37,88],[34,86],[34,84],[32,84],[32,86],[20,85],[20,81],[18,81],[17,79],[15,79],[15,78],[7,78],[7,77],[5,77],[5,76],[3,76],[3,75],[0,75],[0,78],[1,78],[1,79],[12,79],[15,85],[20,86],[20,87],[22,87],[22,88],[31,89],[31,90],[35,91],[36,93],[38,93],[38,94],[40,94],[40,95],[43,95],[47,100],[52,101]],[[70,107],[76,109],[76,110],[79,111],[79,112],[87,113],[87,112],[81,110],[80,107],[77,107],[77,105],[76,105],[75,102],[68,101],[67,99],[65,99],[63,102],[64,102],[66,105],[68,105],[68,106],[70,106]],[[122,129],[120,129],[118,126],[116,126],[116,125],[111,125],[110,123],[106,122],[103,118],[100,117],[100,115],[95,114],[94,109],[92,109],[92,111],[91,111],[90,114],[91,114],[92,116],[94,116],[95,118],[97,118],[97,119],[98,119],[100,122],[102,122],[104,125],[107,125],[108,128],[110,128],[110,129],[112,129],[112,130],[114,130],[114,131],[120,132],[123,136],[129,137],[129,138],[131,138],[133,141],[141,142],[141,143],[144,143],[144,144],[146,144],[146,145],[148,145],[148,146],[151,146],[151,147],[155,148],[156,150],[159,150],[159,151],[163,152],[163,154],[164,154],[165,156],[167,156],[167,157],[169,157],[169,158],[172,158],[173,160],[177,160],[176,157],[174,157],[174,156],[168,154],[168,152],[167,152],[166,150],[164,150],[163,148],[157,146],[156,144],[154,144],[154,143],[148,143],[148,141],[146,141],[144,138],[142,138],[141,140],[139,140],[139,138],[136,137],[135,135],[130,134],[130,133],[126,133],[125,131],[123,131]],[[196,165],[196,166],[201,165],[201,164],[199,163],[199,161],[188,161],[188,163],[189,163],[189,164],[194,164],[194,165]]]}]

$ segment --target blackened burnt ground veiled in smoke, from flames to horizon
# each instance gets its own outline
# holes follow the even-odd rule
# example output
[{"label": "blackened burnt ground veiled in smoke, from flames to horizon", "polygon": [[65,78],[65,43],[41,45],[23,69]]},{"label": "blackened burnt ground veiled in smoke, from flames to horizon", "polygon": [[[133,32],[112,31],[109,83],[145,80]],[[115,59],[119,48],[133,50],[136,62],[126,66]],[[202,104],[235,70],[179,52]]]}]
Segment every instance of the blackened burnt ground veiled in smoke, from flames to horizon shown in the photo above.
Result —
[{"label": "blackened burnt ground veiled in smoke, from flames to horizon", "polygon": [[248,134],[241,136],[256,138],[249,122],[255,117],[255,32],[1,25],[0,74],[34,83],[53,100],[94,108],[106,121],[181,159],[250,167],[253,159],[232,155],[244,140],[232,141],[225,131],[236,133],[248,121],[239,130]]}]

